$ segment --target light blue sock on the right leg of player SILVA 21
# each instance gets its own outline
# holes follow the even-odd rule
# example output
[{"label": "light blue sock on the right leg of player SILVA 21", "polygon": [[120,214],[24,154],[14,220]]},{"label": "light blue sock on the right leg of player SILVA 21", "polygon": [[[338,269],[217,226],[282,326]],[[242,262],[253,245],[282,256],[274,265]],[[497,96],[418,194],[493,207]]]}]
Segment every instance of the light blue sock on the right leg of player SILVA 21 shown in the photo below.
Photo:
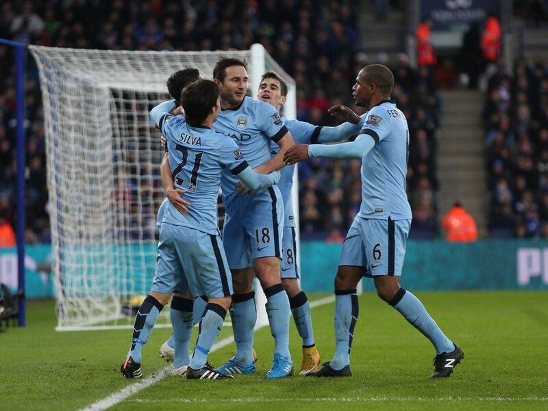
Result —
[{"label": "light blue sock on the right leg of player SILVA 21", "polygon": [[201,369],[206,365],[208,354],[217,336],[219,336],[219,332],[221,332],[226,315],[227,311],[219,304],[209,303],[206,306],[206,314],[200,320],[198,341],[192,360],[190,360],[189,366],[191,369]]}]

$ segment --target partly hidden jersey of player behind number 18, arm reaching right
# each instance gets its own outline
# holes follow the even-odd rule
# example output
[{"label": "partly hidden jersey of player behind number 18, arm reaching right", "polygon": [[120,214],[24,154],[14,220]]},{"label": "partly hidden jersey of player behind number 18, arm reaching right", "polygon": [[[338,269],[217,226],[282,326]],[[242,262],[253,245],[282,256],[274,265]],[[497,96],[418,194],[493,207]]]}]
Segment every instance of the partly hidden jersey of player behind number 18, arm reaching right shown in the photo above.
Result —
[{"label": "partly hidden jersey of player behind number 18, arm reaching right", "polygon": [[[287,129],[291,133],[295,144],[310,144],[312,137],[319,135],[321,127],[314,126],[308,122],[299,120],[287,120],[282,118]],[[279,153],[279,146],[275,142],[271,142],[271,155]],[[282,170],[282,176],[279,178],[278,188],[284,199],[285,211],[285,227],[295,227],[295,215],[293,214],[293,201],[291,197],[291,189],[293,187],[293,172],[295,172],[295,164],[286,165]]]}]

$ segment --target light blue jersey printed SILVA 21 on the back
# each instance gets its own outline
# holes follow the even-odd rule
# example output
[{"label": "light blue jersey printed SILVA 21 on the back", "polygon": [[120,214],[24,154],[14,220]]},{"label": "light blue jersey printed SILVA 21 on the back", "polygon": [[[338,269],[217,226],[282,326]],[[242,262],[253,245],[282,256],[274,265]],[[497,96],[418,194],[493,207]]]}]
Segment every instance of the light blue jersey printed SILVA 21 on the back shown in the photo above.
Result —
[{"label": "light blue jersey printed SILVA 21 on the back", "polygon": [[185,189],[190,202],[186,215],[167,202],[163,223],[187,226],[219,234],[217,196],[223,170],[238,174],[249,165],[234,140],[207,127],[190,127],[182,116],[162,116],[160,129],[169,152],[169,165],[176,188]]}]

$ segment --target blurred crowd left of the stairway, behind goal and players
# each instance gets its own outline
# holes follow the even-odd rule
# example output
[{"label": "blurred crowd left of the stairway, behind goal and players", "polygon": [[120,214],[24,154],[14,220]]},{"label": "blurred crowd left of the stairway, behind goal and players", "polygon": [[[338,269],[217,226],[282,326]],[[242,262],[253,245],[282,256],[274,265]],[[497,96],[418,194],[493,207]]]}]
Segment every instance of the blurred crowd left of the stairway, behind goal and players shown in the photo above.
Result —
[{"label": "blurred crowd left of the stairway, behind goal and players", "polygon": [[[358,0],[64,0],[0,4],[0,38],[52,47],[112,50],[249,49],[260,42],[297,81],[300,120],[335,125],[327,108],[352,106],[351,86],[362,66],[388,64],[361,52]],[[14,59],[0,45],[0,217],[15,223]],[[27,243],[49,242],[45,132],[32,57],[26,83],[25,202]],[[393,97],[410,124],[408,189],[416,235],[438,231],[436,128],[440,101],[429,71],[393,65]],[[166,73],[168,75],[169,73]],[[254,90],[253,90],[254,92]],[[356,111],[360,112],[356,107]],[[340,241],[360,204],[360,162],[314,160],[301,170],[303,237]],[[421,234],[422,233],[422,234]]]}]

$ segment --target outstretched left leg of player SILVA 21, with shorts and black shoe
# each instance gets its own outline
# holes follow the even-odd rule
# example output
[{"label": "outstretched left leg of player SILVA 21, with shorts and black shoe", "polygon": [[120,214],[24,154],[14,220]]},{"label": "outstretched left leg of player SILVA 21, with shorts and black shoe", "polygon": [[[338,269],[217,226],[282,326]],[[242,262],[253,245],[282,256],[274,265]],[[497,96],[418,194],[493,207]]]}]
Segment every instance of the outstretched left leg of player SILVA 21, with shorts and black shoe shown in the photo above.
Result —
[{"label": "outstretched left leg of player SILVA 21, with shorts and black shoe", "polygon": [[132,345],[121,367],[122,375],[127,378],[142,376],[140,368],[142,346],[147,343],[160,311],[171,298],[175,289],[177,270],[180,271],[180,265],[177,263],[173,241],[169,230],[164,230],[162,226],[151,293],[139,307],[134,323]]}]

